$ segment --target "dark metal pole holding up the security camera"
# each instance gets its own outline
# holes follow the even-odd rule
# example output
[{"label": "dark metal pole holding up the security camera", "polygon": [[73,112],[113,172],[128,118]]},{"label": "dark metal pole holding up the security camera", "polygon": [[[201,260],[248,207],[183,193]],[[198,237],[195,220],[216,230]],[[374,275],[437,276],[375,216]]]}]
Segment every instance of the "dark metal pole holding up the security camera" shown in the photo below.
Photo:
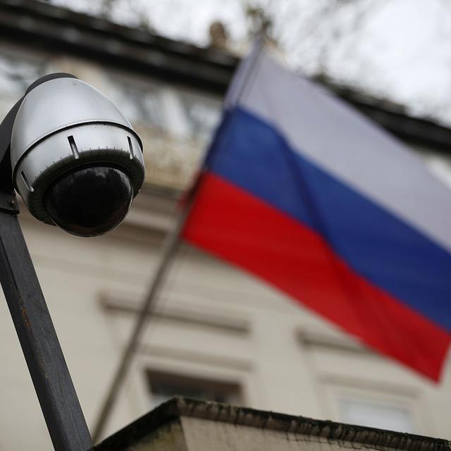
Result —
[{"label": "dark metal pole holding up the security camera", "polygon": [[0,164],[0,281],[56,451],[92,448],[22,230],[8,158]]}]

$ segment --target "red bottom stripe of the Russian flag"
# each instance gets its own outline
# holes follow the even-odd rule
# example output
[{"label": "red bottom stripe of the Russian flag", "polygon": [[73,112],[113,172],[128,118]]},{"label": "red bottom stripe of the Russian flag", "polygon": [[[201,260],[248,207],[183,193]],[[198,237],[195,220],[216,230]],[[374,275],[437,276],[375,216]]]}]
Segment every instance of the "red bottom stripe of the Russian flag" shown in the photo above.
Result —
[{"label": "red bottom stripe of the Russian flag", "polygon": [[314,230],[245,190],[206,173],[183,237],[438,380],[450,344],[443,328],[355,273]]}]

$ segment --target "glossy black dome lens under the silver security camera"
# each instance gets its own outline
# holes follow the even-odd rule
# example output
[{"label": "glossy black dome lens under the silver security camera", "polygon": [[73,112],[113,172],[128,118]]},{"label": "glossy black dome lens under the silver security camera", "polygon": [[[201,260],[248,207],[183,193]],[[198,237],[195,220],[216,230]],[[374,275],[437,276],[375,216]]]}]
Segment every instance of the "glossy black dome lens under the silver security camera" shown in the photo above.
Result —
[{"label": "glossy black dome lens under the silver security camera", "polygon": [[58,178],[44,196],[52,221],[80,237],[103,235],[121,223],[130,209],[133,188],[116,168],[88,166]]}]

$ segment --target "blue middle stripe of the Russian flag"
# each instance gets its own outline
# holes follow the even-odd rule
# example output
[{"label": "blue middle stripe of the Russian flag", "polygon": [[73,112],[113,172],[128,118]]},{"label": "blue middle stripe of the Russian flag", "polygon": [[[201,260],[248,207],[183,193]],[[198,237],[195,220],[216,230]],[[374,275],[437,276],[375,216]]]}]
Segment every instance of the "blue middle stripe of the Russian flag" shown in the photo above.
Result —
[{"label": "blue middle stripe of the Russian flag", "polygon": [[229,111],[207,166],[323,235],[354,271],[451,332],[450,253],[294,152],[271,125]]}]

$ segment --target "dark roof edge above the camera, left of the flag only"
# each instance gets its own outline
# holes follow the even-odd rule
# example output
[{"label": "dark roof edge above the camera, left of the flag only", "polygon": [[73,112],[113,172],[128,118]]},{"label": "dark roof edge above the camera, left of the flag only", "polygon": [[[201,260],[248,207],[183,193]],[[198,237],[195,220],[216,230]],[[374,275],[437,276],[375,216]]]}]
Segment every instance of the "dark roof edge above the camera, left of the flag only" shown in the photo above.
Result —
[{"label": "dark roof edge above the camera, left of the flag only", "polygon": [[222,94],[237,58],[35,0],[0,0],[0,39]]}]

